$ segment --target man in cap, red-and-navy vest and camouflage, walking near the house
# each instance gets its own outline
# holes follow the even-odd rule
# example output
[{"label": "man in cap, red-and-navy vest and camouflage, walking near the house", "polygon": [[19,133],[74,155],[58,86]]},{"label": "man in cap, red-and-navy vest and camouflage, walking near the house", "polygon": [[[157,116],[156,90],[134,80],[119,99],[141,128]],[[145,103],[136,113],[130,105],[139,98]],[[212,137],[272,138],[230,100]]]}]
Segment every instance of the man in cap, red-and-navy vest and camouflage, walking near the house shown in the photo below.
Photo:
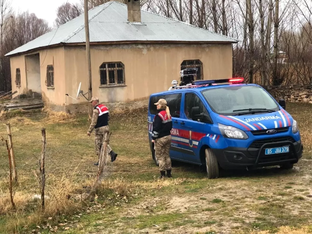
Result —
[{"label": "man in cap, red-and-navy vest and camouflage, walking near the house", "polygon": [[[92,122],[90,124],[90,128],[87,134],[88,136],[90,136],[93,129],[95,129],[95,154],[100,157],[104,134],[105,132],[110,130],[108,126],[108,121],[110,120],[110,112],[104,104],[99,103],[99,99],[97,97],[92,97],[91,101],[89,102],[91,102],[94,110],[92,115]],[[111,161],[115,161],[117,154],[110,148],[109,145],[107,145],[107,152],[110,154]],[[99,162],[95,163],[94,165],[99,165]]]}]

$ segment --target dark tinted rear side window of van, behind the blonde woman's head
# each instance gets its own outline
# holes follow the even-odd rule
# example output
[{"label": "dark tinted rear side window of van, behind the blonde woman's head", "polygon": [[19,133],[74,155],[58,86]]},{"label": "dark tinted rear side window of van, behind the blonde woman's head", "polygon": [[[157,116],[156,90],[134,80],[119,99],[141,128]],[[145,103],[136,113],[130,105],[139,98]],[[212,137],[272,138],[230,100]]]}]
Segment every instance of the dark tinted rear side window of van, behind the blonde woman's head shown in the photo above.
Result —
[{"label": "dark tinted rear side window of van, behind the blonde woman's head", "polygon": [[152,115],[156,115],[157,107],[156,105],[154,105],[154,103],[158,102],[159,99],[164,99],[167,101],[167,106],[169,107],[170,115],[175,118],[180,118],[181,98],[182,98],[181,93],[151,97],[149,102],[149,113],[151,113]]}]

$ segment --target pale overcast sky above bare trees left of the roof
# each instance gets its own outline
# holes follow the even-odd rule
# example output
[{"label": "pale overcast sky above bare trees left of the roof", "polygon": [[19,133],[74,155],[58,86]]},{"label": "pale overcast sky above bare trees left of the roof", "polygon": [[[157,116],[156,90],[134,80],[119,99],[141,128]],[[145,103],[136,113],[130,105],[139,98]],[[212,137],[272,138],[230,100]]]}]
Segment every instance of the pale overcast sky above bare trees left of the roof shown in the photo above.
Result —
[{"label": "pale overcast sky above bare trees left of the roof", "polygon": [[[56,19],[56,9],[67,0],[12,0],[12,7],[16,12],[29,11],[35,13],[38,18],[45,19],[53,26]],[[79,0],[68,0],[70,3],[79,2]]]}]

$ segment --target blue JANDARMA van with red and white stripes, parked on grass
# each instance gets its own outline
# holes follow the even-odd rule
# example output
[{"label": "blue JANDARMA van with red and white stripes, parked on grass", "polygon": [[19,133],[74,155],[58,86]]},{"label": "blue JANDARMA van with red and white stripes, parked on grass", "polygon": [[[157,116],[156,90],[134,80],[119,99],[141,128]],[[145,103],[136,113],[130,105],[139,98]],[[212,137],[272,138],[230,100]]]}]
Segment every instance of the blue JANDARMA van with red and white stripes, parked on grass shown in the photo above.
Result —
[{"label": "blue JANDARMA van with red and white stripes, parked on grass", "polygon": [[219,177],[219,168],[292,168],[302,157],[303,145],[297,122],[285,110],[285,100],[277,102],[261,86],[242,81],[195,81],[152,94],[148,131],[156,165],[151,134],[157,114],[154,103],[162,98],[173,121],[172,160],[206,165],[208,178]]}]

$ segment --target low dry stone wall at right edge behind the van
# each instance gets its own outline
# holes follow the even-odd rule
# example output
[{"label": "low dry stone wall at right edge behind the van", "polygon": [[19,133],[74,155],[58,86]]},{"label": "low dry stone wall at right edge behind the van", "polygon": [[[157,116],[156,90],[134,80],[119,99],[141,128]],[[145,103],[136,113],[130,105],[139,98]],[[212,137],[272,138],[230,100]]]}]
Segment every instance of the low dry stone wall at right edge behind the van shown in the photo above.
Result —
[{"label": "low dry stone wall at right edge behind the van", "polygon": [[312,104],[312,87],[267,90],[277,101],[305,102]]}]

